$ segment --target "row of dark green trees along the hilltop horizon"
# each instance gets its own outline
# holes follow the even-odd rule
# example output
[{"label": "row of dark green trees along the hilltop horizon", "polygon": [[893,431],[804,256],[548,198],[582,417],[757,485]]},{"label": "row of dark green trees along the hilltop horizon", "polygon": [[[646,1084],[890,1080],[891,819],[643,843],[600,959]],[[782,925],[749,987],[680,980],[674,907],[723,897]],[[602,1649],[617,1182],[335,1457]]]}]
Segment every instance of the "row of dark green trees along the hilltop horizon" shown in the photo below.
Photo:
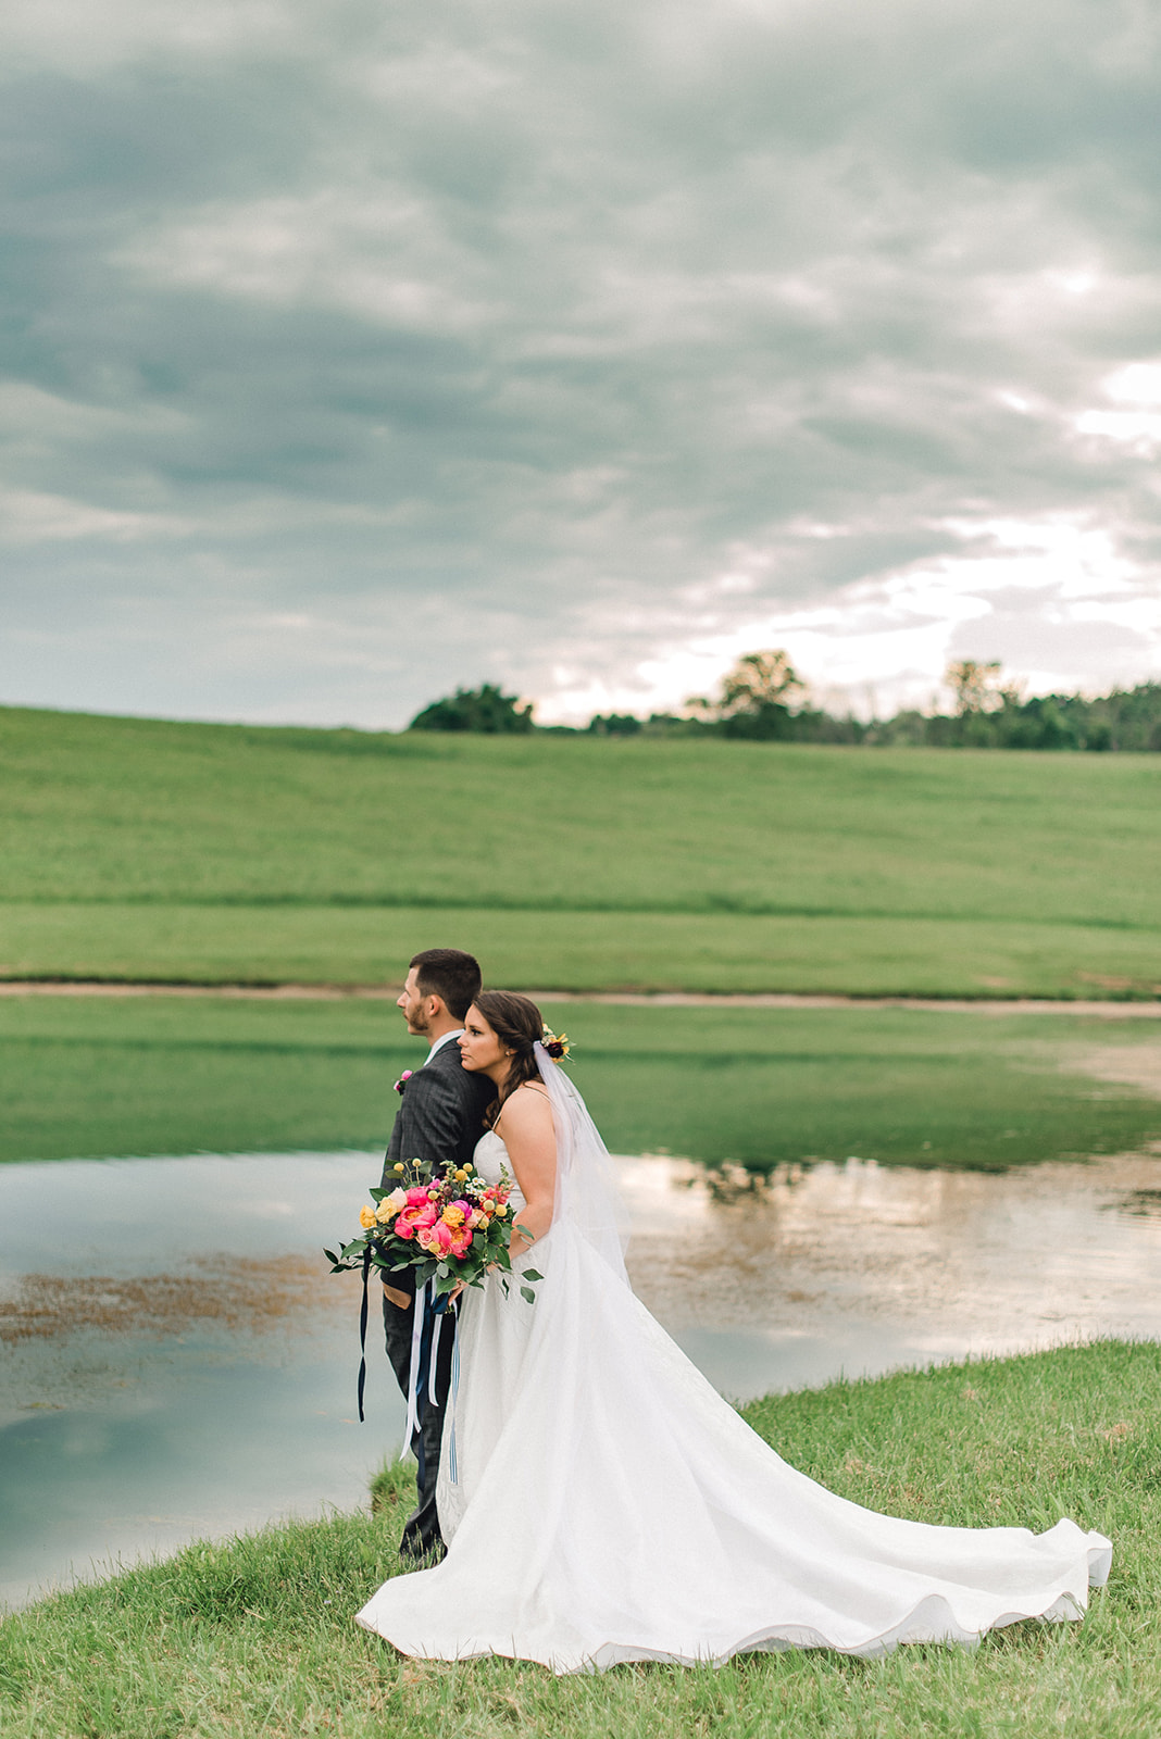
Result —
[{"label": "row of dark green trees along the hilltop horizon", "polygon": [[594,713],[587,725],[537,725],[532,706],[485,682],[433,701],[408,730],[488,736],[553,732],[601,737],[735,737],[749,743],[852,743],[866,746],[1161,751],[1161,682],[1102,696],[1025,696],[998,661],[958,659],[944,682],[949,711],[906,708],[890,718],[838,716],[815,706],[782,650],[747,652],[716,696],[693,696],[680,713]]}]

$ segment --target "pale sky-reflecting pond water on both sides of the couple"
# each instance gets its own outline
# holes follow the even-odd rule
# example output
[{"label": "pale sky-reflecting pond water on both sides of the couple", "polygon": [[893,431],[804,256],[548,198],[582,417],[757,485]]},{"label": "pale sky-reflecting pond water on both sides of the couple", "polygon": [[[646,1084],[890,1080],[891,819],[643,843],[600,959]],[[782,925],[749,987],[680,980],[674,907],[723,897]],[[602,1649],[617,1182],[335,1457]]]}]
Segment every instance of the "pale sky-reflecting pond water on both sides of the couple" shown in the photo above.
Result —
[{"label": "pale sky-reflecting pond water on both sides of the couple", "polygon": [[[732,1398],[1161,1329],[1161,1151],[1005,1174],[619,1160],[638,1292]],[[368,1153],[0,1169],[0,1600],[349,1508],[400,1447],[358,1280]]]}]

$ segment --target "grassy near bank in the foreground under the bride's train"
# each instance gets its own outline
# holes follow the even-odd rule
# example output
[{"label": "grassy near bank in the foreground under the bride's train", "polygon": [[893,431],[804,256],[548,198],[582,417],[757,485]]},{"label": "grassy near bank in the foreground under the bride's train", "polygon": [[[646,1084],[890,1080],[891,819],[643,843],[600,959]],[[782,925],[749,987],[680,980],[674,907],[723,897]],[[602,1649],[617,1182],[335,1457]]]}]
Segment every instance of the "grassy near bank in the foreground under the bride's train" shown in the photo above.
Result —
[{"label": "grassy near bank in the foreground under the bride's train", "polygon": [[351,1614],[396,1574],[405,1469],[377,1515],[193,1546],[0,1626],[3,1739],[1145,1739],[1161,1708],[1161,1349],[1095,1346],[838,1383],[747,1409],[794,1466],[923,1522],[1114,1542],[1081,1624],[975,1652],[739,1657],[553,1678],[396,1656]]}]

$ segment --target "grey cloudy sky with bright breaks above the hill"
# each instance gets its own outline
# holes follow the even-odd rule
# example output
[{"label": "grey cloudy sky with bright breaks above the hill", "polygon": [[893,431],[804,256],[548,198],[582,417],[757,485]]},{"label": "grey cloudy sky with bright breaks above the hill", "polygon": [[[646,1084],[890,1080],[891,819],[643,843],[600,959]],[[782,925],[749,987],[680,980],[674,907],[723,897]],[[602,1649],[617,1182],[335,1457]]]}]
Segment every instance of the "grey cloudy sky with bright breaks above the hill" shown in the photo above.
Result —
[{"label": "grey cloudy sky with bright breaks above the hill", "polygon": [[0,699],[1161,675],[1154,0],[5,0]]}]

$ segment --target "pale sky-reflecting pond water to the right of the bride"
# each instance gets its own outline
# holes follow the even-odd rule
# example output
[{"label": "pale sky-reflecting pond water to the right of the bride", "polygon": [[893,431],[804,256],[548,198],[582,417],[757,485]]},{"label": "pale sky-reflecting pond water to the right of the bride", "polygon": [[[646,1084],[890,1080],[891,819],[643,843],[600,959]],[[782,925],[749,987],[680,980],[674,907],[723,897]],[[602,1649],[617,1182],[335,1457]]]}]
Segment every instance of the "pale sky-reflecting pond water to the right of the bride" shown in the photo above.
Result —
[{"label": "pale sky-reflecting pond water to the right of the bride", "polygon": [[739,1396],[1161,1332],[1156,1153],[1005,1174],[848,1160],[720,1188],[713,1210],[695,1167],[629,1160],[624,1176],[638,1292],[690,1349],[690,1336],[747,1336]]}]

